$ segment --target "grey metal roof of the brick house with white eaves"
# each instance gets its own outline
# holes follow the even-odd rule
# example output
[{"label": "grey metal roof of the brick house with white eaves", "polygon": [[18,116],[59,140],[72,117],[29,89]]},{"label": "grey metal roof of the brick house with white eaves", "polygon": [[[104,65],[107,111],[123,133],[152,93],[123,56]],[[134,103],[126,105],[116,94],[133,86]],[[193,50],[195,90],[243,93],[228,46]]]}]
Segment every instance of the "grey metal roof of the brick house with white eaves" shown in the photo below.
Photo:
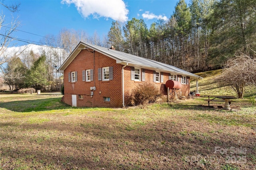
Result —
[{"label": "grey metal roof of the brick house with white eaves", "polygon": [[78,55],[78,53],[80,53],[80,51],[82,49],[86,49],[86,48],[90,48],[93,49],[94,51],[98,51],[99,53],[102,53],[112,59],[116,60],[116,63],[120,63],[123,65],[130,65],[130,66],[138,66],[141,68],[147,68],[147,69],[154,69],[154,70],[159,70],[162,72],[169,72],[172,74],[180,74],[182,76],[190,76],[192,78],[195,79],[202,79],[202,77],[193,74],[191,72],[182,70],[180,68],[177,68],[175,66],[171,66],[169,64],[164,64],[164,63],[160,63],[158,61],[154,61],[154,60],[150,60],[150,59],[146,59],[143,57],[138,57],[136,55],[131,55],[128,53],[124,53],[121,51],[116,51],[113,49],[108,49],[106,47],[100,47],[98,45],[92,45],[89,43],[84,43],[84,42],[80,42],[76,48],[74,49],[74,51],[72,51],[72,53],[70,54],[70,56],[66,59],[66,61],[60,66],[59,71],[60,72],[64,72],[65,68],[68,66],[68,64],[71,63],[71,61],[76,57],[76,55]]}]

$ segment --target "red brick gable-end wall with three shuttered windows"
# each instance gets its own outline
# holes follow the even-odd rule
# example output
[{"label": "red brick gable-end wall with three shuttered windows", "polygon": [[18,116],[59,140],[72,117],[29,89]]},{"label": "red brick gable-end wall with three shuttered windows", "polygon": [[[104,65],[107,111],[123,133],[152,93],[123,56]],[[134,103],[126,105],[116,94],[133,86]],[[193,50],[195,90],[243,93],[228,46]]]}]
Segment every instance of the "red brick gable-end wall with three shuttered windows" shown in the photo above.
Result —
[{"label": "red brick gable-end wall with three shuttered windows", "polygon": [[[92,49],[89,49],[92,51]],[[98,68],[113,66],[113,80],[99,81]],[[91,82],[82,81],[82,70],[93,69],[94,80]],[[116,64],[116,60],[111,59],[95,51],[82,50],[76,58],[64,70],[64,94],[65,103],[72,105],[72,94],[77,94],[77,106],[87,107],[121,107],[122,106],[122,65]],[[68,72],[77,71],[77,82],[68,82]],[[90,90],[95,83],[96,90]],[[90,92],[94,92],[91,97]],[[82,95],[83,99],[78,99]],[[110,97],[110,102],[104,102],[104,97]]]}]

